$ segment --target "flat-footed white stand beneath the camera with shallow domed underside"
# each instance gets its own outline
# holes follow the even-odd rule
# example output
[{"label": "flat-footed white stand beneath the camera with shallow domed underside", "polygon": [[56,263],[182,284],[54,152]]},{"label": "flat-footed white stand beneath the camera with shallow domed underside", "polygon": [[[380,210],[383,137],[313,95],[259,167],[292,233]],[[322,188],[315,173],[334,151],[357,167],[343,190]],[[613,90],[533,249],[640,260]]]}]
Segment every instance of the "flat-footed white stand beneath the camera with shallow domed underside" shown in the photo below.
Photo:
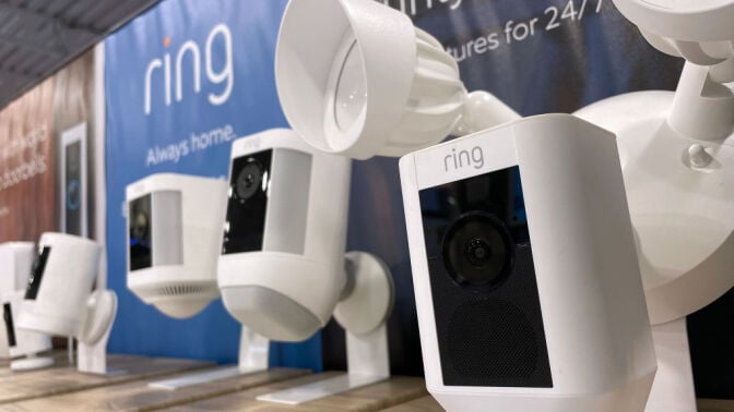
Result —
[{"label": "flat-footed white stand beneath the camera with shallow domed underside", "polygon": [[239,339],[239,359],[236,366],[222,366],[206,372],[147,384],[151,388],[175,390],[193,385],[232,378],[268,369],[270,340],[242,326]]}]

